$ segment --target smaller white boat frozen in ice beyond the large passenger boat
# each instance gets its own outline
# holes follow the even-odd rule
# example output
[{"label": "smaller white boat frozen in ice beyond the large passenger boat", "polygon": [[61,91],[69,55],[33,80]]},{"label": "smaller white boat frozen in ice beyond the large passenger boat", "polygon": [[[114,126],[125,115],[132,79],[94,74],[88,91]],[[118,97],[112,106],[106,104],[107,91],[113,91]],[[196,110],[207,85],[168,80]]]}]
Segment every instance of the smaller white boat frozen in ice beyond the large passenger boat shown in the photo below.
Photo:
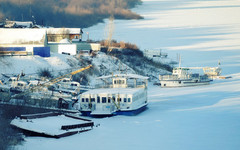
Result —
[{"label": "smaller white boat frozen in ice beyond the large passenger boat", "polygon": [[209,84],[207,75],[189,73],[189,68],[177,67],[173,69],[172,75],[160,75],[161,87],[185,87]]}]

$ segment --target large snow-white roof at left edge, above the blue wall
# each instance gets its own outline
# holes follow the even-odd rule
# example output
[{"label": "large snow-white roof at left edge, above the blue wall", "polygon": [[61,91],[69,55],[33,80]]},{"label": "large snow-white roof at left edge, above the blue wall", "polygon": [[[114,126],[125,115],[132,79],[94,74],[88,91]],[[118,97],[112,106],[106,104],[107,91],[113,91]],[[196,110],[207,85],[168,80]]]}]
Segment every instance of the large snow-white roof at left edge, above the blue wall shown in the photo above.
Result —
[{"label": "large snow-white roof at left edge, above the blue wall", "polygon": [[0,44],[44,44],[45,29],[0,29]]}]

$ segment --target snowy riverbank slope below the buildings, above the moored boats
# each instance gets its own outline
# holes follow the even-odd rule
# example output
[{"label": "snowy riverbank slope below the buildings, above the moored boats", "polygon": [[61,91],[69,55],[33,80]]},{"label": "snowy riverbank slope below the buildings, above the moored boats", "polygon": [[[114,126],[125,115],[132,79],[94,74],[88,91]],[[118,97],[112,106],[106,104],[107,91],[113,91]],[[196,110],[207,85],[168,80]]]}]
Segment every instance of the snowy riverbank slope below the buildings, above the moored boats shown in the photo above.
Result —
[{"label": "snowy riverbank slope below the buildings, above the moored boats", "polygon": [[[2,57],[0,63],[3,65],[0,66],[0,73],[12,76],[23,72],[26,75],[32,76],[37,75],[41,69],[48,69],[53,76],[58,77],[91,64],[93,65],[93,68],[91,68],[93,71],[85,72],[87,74],[87,80],[90,84],[94,84],[94,79],[102,75],[119,72],[136,73],[132,68],[124,62],[121,62],[116,57],[106,55],[102,52],[99,52],[99,54],[95,57],[74,57],[55,53],[52,53],[51,55],[52,56],[49,58],[39,56]],[[150,67],[145,67],[142,71],[146,75],[154,76],[155,80],[158,78],[159,73],[167,72],[162,69],[158,69],[157,72],[153,72]]]}]

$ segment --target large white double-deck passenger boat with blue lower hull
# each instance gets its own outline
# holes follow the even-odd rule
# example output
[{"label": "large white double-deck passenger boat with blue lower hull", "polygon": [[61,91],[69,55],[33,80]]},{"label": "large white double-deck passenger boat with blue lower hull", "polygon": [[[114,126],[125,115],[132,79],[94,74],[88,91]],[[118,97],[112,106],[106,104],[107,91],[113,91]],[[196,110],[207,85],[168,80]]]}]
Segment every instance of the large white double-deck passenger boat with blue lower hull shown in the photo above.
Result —
[{"label": "large white double-deck passenger boat with blue lower hull", "polygon": [[148,77],[135,74],[116,74],[99,77],[105,84],[79,95],[83,115],[135,115],[147,104]]}]

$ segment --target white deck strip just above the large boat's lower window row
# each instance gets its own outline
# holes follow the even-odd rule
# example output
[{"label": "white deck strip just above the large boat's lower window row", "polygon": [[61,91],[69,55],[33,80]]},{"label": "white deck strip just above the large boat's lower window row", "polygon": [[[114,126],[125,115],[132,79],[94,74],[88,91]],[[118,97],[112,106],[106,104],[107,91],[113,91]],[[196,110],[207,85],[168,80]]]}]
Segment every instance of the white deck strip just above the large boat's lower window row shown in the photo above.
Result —
[{"label": "white deck strip just above the large boat's lower window row", "polygon": [[84,92],[82,95],[86,94],[134,94],[137,92],[143,92],[143,88],[101,88],[93,89]]}]

